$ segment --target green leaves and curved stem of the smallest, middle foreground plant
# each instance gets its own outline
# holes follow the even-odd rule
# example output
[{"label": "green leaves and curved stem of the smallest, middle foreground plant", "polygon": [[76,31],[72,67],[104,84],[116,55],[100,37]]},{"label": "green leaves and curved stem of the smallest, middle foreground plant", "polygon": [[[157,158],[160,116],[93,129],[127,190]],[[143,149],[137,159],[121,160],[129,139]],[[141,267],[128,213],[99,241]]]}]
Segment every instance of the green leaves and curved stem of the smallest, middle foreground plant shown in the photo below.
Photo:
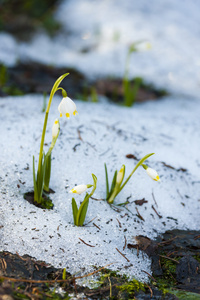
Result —
[{"label": "green leaves and curved stem of the smallest, middle foreground plant", "polygon": [[79,209],[78,209],[75,199],[72,198],[72,211],[73,211],[73,217],[74,217],[74,225],[76,225],[76,226],[83,226],[83,223],[85,221],[85,217],[87,214],[89,199],[90,199],[90,197],[92,197],[92,195],[94,194],[94,191],[96,190],[97,177],[94,174],[92,174],[92,178],[93,178],[92,192],[90,194],[86,193],[85,198],[84,198],[83,202],[81,203]]}]

